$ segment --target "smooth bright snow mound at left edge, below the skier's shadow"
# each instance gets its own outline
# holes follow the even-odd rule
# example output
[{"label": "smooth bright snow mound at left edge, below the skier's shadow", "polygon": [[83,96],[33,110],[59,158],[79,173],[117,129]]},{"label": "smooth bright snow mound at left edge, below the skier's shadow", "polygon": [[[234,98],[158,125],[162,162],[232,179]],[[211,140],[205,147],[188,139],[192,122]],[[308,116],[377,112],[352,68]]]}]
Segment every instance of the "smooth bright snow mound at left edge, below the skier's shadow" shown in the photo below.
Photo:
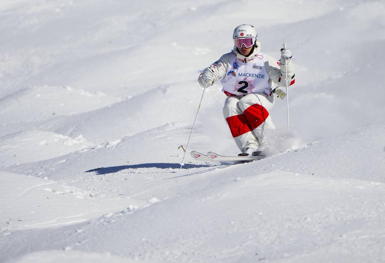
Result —
[{"label": "smooth bright snow mound at left edge, below the skier's shadow", "polygon": [[[125,209],[129,202],[119,197],[109,199],[93,196],[92,192],[86,193],[52,180],[7,172],[0,172],[0,176],[2,231],[84,222],[108,212]],[[131,203],[142,202],[131,200]]]}]

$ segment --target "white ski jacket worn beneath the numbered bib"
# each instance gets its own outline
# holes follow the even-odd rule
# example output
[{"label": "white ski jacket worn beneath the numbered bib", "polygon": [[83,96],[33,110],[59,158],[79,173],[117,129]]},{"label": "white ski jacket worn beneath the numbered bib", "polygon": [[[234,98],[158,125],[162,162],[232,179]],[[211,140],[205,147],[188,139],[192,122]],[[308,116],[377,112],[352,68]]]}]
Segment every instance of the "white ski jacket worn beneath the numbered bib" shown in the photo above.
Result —
[{"label": "white ski jacket worn beneath the numbered bib", "polygon": [[[214,62],[209,66],[214,72],[214,82],[221,80],[223,79],[223,77],[226,76],[227,69],[234,55],[236,55],[236,59],[238,60],[238,63],[249,63],[249,62],[252,62],[254,58],[256,57],[258,58],[258,55],[260,54],[260,52],[261,52],[260,42],[256,42],[256,46],[254,47],[253,53],[250,54],[248,57],[245,57],[239,54],[237,48],[234,46],[234,50],[231,50],[231,52],[224,54],[219,60],[217,60],[216,62]],[[269,85],[271,90],[275,89],[276,85],[281,87],[286,87],[286,79],[287,79],[288,85],[294,84],[295,74],[294,74],[293,64],[291,63],[291,59],[287,60],[287,65],[286,65],[286,59],[284,57],[281,57],[279,62],[273,57],[269,56],[268,54],[264,54],[263,57],[264,57],[264,67],[269,76]],[[286,66],[287,66],[287,76],[285,75]],[[203,73],[199,75],[198,82],[202,87],[204,87],[206,85],[206,81],[203,80],[202,75]],[[229,95],[229,94],[226,93],[226,95]]]}]

